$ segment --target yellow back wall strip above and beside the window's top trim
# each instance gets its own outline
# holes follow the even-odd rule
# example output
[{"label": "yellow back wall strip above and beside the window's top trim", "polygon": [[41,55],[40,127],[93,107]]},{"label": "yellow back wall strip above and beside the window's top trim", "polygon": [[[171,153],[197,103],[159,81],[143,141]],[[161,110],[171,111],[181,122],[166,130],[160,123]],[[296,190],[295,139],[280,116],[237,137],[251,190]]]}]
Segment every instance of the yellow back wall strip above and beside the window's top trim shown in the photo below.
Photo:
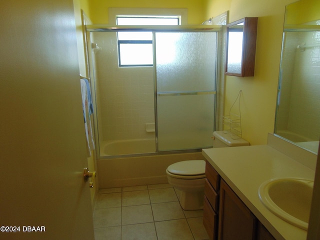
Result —
[{"label": "yellow back wall strip above and beside the window's top trim", "polygon": [[188,24],[205,20],[205,0],[90,0],[87,13],[94,24],[108,23],[108,7],[188,8]]}]

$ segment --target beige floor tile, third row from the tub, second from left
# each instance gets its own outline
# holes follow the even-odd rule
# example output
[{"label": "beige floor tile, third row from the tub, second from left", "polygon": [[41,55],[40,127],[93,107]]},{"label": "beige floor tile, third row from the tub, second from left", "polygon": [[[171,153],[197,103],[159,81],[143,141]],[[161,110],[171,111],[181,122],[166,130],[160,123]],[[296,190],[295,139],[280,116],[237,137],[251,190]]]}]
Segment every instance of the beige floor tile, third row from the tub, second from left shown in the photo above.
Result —
[{"label": "beige floor tile, third row from the tub, second from left", "polygon": [[122,207],[122,225],[152,222],[151,205]]}]

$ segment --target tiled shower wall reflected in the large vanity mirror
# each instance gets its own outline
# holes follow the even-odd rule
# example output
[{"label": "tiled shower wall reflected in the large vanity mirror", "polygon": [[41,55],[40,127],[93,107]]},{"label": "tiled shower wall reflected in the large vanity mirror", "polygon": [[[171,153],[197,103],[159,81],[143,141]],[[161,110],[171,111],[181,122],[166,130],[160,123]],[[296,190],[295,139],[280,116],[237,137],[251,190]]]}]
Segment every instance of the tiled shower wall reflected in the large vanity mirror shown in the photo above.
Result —
[{"label": "tiled shower wall reflected in the large vanity mirror", "polygon": [[[298,49],[299,44],[319,46]],[[320,32],[286,32],[278,129],[318,140],[320,132]],[[284,86],[284,87],[283,87]]]}]

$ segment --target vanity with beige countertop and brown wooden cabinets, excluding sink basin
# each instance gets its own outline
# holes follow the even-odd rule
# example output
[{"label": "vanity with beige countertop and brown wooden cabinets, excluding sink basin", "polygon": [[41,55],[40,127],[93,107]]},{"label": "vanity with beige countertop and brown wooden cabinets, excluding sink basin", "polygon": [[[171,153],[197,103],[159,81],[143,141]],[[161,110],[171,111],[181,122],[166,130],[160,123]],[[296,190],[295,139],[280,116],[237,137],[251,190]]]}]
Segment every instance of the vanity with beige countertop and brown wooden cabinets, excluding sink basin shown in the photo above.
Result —
[{"label": "vanity with beige countertop and brown wooden cabinets, excluding sink basin", "polygon": [[210,239],[306,239],[306,230],[262,203],[259,187],[275,178],[313,180],[316,154],[271,133],[267,145],[209,148],[202,154],[203,224]]}]

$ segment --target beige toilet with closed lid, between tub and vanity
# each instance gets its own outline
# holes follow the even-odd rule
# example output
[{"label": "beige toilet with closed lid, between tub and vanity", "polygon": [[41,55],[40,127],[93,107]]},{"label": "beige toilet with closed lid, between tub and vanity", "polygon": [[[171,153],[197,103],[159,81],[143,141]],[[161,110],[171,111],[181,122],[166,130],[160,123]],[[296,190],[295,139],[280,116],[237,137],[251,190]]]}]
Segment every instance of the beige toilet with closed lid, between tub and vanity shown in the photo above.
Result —
[{"label": "beige toilet with closed lid, between tub and vanity", "polygon": [[[227,131],[213,132],[213,147],[246,146],[250,143]],[[166,168],[168,182],[177,190],[184,210],[203,208],[205,161],[185,160]]]}]

